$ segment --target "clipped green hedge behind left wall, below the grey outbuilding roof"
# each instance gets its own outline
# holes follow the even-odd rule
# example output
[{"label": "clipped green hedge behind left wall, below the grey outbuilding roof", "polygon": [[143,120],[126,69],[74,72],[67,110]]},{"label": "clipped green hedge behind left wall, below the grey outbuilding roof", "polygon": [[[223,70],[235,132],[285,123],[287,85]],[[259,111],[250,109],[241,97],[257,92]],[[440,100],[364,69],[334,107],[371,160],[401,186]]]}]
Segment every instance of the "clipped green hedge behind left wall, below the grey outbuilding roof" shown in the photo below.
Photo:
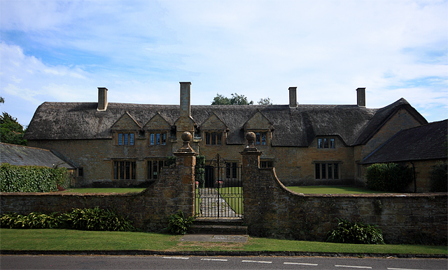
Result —
[{"label": "clipped green hedge behind left wall, below the grey outbuilding roof", "polygon": [[70,180],[64,167],[0,165],[0,192],[51,192],[68,188]]}]

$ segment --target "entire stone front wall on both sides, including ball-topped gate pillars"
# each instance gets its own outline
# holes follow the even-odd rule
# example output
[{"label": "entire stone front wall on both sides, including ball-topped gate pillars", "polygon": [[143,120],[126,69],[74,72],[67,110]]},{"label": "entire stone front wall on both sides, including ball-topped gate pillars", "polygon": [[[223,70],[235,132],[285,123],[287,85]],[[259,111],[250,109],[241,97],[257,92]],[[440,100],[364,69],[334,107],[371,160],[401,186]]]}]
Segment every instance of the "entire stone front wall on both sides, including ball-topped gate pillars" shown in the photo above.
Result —
[{"label": "entire stone front wall on both sides, including ball-topped gate pillars", "polygon": [[[255,136],[255,135],[254,135]],[[183,138],[184,139],[184,138]],[[71,211],[73,208],[113,209],[146,231],[167,227],[167,217],[181,210],[195,213],[196,155],[185,137],[174,153],[175,167],[138,194],[1,193],[0,213]],[[261,152],[253,141],[243,159],[244,223],[249,234],[324,241],[337,218],[378,225],[386,243],[447,244],[448,193],[304,195],[288,190],[274,168],[260,168]]]}]

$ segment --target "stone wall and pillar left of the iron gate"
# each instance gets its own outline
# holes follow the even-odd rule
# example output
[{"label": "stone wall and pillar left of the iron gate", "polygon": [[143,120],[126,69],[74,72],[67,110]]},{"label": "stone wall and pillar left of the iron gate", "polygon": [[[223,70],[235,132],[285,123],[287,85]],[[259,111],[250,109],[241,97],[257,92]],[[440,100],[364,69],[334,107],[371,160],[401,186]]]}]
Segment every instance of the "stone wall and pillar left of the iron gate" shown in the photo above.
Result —
[{"label": "stone wall and pillar left of the iron gate", "polygon": [[176,166],[165,167],[161,177],[138,194],[1,193],[0,213],[28,214],[71,211],[73,208],[113,209],[134,221],[134,227],[158,231],[167,227],[167,217],[181,210],[195,214],[195,155],[174,153]]}]

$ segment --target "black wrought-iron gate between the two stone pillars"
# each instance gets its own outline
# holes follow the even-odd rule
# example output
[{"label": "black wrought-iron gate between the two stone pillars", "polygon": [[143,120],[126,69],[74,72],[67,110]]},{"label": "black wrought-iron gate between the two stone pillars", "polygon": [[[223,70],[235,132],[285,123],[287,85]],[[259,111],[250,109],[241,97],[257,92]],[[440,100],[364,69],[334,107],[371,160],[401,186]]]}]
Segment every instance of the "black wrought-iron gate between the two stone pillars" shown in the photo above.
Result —
[{"label": "black wrought-iron gate between the two stone pillars", "polygon": [[241,166],[226,161],[219,153],[204,167],[204,181],[197,183],[195,213],[204,218],[242,218]]}]

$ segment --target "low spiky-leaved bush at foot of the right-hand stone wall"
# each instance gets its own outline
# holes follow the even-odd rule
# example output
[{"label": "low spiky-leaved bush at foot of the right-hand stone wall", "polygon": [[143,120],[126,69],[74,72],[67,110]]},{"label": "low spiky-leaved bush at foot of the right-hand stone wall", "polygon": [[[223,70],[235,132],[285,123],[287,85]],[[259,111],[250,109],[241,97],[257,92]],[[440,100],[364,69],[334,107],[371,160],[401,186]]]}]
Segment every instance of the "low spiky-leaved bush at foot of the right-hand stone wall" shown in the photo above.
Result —
[{"label": "low spiky-leaved bush at foot of the right-hand stone wall", "polygon": [[377,225],[361,222],[351,223],[348,220],[337,219],[337,229],[328,232],[327,242],[333,243],[384,243],[383,233]]}]

